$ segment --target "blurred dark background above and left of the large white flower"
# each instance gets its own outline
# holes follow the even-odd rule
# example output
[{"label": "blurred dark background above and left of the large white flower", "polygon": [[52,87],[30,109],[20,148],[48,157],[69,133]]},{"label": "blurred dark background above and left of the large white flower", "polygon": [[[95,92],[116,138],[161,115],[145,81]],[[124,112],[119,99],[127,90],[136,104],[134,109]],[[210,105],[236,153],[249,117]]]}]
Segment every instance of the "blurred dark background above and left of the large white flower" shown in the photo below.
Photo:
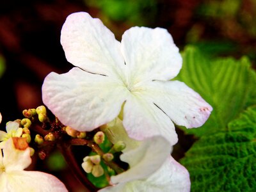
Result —
[{"label": "blurred dark background above and left of the large white flower", "polygon": [[[256,63],[254,0],[1,0],[1,129],[9,120],[22,118],[23,109],[42,104],[41,86],[49,72],[72,68],[60,31],[70,13],[81,11],[100,18],[118,40],[132,26],[161,27],[181,51],[193,44],[209,56],[246,55],[253,66]],[[74,191],[83,191],[76,182],[66,182]]]}]

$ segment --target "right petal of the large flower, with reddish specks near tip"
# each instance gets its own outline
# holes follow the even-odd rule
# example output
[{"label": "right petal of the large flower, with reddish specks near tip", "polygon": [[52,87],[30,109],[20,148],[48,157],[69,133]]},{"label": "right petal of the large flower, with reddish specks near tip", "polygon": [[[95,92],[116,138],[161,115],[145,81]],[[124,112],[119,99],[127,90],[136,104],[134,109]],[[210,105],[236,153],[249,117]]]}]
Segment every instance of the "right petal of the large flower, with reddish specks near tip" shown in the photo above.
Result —
[{"label": "right petal of the large flower, with reddish specks near tip", "polygon": [[152,99],[177,125],[200,127],[211,114],[212,107],[180,81],[151,81],[144,88],[144,98]]}]

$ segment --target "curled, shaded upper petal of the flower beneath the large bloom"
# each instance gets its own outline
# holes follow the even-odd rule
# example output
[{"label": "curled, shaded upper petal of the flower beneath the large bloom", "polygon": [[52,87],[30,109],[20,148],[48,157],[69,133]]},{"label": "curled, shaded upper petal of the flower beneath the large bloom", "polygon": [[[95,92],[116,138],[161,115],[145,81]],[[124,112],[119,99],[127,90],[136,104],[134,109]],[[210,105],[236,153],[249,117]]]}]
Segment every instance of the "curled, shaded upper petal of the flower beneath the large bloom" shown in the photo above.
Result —
[{"label": "curled, shaded upper petal of the flower beneath the large bloom", "polygon": [[165,159],[170,156],[170,143],[161,136],[143,140],[134,150],[124,152],[120,159],[129,164],[129,170],[111,177],[111,181],[129,182],[131,180],[145,179],[156,172]]}]

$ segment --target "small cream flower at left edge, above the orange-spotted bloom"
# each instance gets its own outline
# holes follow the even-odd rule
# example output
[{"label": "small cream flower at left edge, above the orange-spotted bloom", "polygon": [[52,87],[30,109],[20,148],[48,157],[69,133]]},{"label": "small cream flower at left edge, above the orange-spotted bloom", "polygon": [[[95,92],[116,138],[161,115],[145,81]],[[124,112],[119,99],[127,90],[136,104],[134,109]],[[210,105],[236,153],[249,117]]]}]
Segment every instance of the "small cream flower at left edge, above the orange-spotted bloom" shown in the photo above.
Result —
[{"label": "small cream flower at left edge, above the orange-spotted bloom", "polygon": [[9,138],[12,138],[12,137],[19,138],[21,135],[22,135],[22,128],[19,127],[19,124],[17,122],[8,122],[6,124],[6,132],[0,131],[0,148],[4,147],[6,140],[8,140]]}]

